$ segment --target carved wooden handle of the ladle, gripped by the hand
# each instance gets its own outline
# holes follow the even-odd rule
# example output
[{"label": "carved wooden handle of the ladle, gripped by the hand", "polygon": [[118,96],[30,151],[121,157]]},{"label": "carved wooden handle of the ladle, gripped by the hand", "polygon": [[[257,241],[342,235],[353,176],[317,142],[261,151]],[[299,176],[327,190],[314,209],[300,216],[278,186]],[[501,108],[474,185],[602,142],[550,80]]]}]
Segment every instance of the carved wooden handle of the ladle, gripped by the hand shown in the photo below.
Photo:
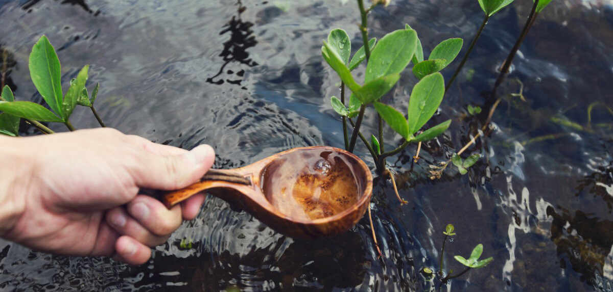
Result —
[{"label": "carved wooden handle of the ladle, gripped by the hand", "polygon": [[187,186],[183,189],[178,189],[176,191],[161,191],[158,189],[146,189],[142,188],[139,191],[139,194],[150,195],[151,197],[155,197],[161,202],[164,203],[168,208],[176,205],[178,202],[181,202],[192,195],[195,195],[201,191],[204,191],[206,188],[202,188],[202,185],[205,184],[206,181],[226,181],[227,183],[235,183],[235,184],[244,184],[246,186],[251,186],[251,179],[245,177],[245,175],[241,175],[238,172],[235,172],[231,169],[209,169],[207,173],[205,173],[200,181],[190,186]]}]

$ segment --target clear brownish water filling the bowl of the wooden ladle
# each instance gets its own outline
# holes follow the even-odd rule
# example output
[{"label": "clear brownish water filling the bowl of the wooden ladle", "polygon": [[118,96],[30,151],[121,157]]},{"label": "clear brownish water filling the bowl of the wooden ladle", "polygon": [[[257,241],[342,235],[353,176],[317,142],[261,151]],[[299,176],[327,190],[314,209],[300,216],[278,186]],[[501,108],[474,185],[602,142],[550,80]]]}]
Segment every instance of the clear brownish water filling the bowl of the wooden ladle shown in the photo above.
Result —
[{"label": "clear brownish water filling the bowl of the wooden ladle", "polygon": [[334,216],[357,203],[354,167],[333,151],[296,151],[271,162],[262,172],[266,199],[299,220]]}]

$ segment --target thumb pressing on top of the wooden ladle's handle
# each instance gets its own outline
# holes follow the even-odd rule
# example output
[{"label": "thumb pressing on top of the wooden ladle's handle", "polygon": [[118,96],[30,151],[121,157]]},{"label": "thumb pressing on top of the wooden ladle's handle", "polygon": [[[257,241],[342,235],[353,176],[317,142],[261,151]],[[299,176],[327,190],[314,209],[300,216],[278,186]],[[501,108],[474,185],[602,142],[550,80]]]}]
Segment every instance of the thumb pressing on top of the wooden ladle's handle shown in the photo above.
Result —
[{"label": "thumb pressing on top of the wooden ladle's handle", "polygon": [[204,144],[181,155],[142,156],[132,175],[137,186],[171,191],[185,188],[207,173],[215,161],[215,150]]}]

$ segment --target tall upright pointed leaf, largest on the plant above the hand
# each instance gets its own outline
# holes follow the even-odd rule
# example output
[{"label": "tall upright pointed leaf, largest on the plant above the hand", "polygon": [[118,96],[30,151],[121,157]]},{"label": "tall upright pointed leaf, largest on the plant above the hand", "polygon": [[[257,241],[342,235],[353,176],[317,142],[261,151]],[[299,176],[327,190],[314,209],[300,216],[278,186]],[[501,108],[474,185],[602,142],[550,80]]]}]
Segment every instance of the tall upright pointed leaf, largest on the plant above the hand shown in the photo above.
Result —
[{"label": "tall upright pointed leaf, largest on the plant above the hand", "polygon": [[61,114],[63,100],[58,55],[45,35],[32,47],[28,67],[34,86],[49,107]]}]

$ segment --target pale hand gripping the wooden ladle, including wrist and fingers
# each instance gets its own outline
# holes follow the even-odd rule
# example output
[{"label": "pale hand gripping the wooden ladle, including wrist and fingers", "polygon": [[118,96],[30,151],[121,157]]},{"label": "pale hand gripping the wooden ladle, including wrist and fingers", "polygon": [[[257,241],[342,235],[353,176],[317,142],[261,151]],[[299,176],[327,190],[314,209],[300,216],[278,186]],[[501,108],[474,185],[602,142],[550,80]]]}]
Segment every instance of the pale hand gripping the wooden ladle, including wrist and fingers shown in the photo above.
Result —
[{"label": "pale hand gripping the wooden ladle, including wrist and fingers", "polygon": [[42,252],[106,256],[131,265],[151,257],[183,220],[197,216],[198,194],[170,210],[139,194],[199,180],[213,148],[187,151],[109,128],[35,137],[0,137],[0,236]]}]

